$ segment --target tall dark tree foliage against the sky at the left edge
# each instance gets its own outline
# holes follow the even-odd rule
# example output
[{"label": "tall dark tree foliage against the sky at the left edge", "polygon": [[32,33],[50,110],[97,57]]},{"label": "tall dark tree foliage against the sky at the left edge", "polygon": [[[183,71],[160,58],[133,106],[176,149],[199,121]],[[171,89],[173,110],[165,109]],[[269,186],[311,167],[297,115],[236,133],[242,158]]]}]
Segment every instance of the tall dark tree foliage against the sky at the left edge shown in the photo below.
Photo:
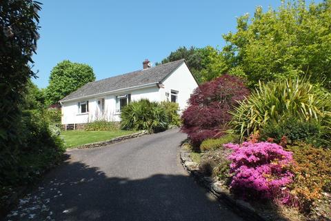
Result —
[{"label": "tall dark tree foliage against the sky at the left edge", "polygon": [[0,1],[0,186],[19,177],[21,111],[26,84],[35,77],[30,64],[36,50],[39,3]]}]

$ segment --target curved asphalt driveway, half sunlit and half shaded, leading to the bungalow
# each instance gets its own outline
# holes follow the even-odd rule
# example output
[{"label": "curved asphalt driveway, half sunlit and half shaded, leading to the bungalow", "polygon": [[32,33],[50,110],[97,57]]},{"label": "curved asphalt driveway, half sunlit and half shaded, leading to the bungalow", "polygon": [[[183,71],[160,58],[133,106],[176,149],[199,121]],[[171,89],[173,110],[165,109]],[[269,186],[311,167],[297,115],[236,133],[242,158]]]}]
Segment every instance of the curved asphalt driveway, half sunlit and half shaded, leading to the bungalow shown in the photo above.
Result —
[{"label": "curved asphalt driveway, half sunlit and half shaded, leading to the bungalow", "polygon": [[68,151],[8,220],[241,220],[184,171],[185,137],[172,129]]}]

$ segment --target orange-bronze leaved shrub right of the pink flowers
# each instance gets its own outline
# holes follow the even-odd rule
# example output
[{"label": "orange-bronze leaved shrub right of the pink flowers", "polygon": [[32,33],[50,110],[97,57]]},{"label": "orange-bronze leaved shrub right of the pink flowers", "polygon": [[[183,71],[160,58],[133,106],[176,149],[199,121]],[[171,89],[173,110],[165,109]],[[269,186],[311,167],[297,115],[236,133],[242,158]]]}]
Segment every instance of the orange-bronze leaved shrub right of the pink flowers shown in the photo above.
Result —
[{"label": "orange-bronze leaved shrub right of the pink flowers", "polygon": [[296,161],[291,193],[299,198],[303,211],[310,211],[312,203],[322,198],[322,192],[331,193],[331,151],[303,143],[286,148]]}]

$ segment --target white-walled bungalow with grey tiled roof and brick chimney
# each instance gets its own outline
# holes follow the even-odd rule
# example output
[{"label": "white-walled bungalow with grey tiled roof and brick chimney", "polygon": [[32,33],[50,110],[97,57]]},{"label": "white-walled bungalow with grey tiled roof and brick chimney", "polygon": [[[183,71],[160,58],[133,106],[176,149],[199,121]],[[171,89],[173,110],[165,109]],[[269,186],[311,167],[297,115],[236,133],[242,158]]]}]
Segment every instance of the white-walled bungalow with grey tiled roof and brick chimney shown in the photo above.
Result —
[{"label": "white-walled bungalow with grey tiled roof and brick chimney", "polygon": [[182,111],[197,86],[184,59],[155,67],[146,59],[143,70],[90,82],[61,99],[61,122],[65,128],[96,119],[119,122],[123,106],[143,98],[176,102]]}]

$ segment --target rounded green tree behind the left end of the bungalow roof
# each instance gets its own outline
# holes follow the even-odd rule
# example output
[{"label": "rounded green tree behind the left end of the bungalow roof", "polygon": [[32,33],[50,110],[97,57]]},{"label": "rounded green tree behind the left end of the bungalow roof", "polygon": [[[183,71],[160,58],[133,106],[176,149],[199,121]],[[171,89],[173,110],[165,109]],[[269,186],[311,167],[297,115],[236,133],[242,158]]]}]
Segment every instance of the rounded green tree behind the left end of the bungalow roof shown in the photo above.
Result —
[{"label": "rounded green tree behind the left end of the bungalow roof", "polygon": [[87,64],[61,61],[50,73],[50,84],[45,92],[48,105],[56,104],[63,97],[94,80],[93,69]]}]

